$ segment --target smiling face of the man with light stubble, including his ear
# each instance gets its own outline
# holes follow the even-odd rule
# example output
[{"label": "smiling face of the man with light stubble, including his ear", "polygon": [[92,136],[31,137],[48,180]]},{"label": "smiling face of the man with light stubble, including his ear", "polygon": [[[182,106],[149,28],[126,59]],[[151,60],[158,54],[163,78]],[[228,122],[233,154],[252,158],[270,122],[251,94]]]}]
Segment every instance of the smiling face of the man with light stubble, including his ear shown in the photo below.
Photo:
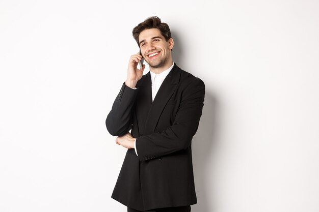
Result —
[{"label": "smiling face of the man with light stubble, including his ear", "polygon": [[139,42],[142,55],[151,68],[169,68],[172,65],[172,38],[166,41],[159,29],[150,28],[140,33]]}]

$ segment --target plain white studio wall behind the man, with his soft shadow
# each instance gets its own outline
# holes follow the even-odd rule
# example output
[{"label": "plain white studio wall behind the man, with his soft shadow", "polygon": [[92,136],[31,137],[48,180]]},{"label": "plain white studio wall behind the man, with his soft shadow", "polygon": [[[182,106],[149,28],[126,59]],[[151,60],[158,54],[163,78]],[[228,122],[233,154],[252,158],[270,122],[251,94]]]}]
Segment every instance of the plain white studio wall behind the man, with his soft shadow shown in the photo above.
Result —
[{"label": "plain white studio wall behind the man, with his soft shadow", "polygon": [[0,1],[0,211],[126,211],[111,199],[126,150],[105,118],[139,51],[132,28],[153,15],[170,25],[174,62],[206,84],[192,211],[319,211],[318,11]]}]

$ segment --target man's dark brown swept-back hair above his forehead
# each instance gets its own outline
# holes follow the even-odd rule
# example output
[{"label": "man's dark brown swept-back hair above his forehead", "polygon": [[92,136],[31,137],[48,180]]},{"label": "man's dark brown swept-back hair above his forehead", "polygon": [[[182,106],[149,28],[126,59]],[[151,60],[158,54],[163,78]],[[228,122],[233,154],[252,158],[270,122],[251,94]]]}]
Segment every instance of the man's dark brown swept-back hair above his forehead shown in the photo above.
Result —
[{"label": "man's dark brown swept-back hair above his forehead", "polygon": [[134,27],[132,34],[136,42],[139,44],[139,35],[144,29],[150,29],[150,28],[158,28],[159,31],[161,31],[162,36],[164,36],[165,40],[168,41],[171,36],[170,27],[167,23],[162,23],[161,19],[157,16],[152,16],[147,18],[142,23],[139,23],[136,27]]}]

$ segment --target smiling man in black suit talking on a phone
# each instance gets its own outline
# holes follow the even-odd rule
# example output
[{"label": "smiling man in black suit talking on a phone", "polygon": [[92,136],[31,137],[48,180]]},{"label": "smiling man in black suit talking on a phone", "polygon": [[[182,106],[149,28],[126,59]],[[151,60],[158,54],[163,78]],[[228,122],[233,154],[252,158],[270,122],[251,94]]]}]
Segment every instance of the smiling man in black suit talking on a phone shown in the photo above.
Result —
[{"label": "smiling man in black suit talking on a phone", "polygon": [[[130,56],[127,79],[106,120],[116,143],[127,148],[112,198],[129,212],[191,211],[197,203],[191,143],[205,85],[173,63],[174,41],[161,19],[146,19],[132,34],[141,54]],[[142,57],[150,68],[144,76]]]}]

